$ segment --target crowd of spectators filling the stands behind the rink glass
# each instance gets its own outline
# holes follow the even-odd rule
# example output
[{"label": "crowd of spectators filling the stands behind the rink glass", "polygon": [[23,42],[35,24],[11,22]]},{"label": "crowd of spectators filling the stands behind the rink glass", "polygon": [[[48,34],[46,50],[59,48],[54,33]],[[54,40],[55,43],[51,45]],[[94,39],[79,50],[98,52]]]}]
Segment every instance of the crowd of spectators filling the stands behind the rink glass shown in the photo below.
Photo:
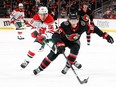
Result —
[{"label": "crowd of spectators filling the stands behind the rink glass", "polygon": [[115,0],[3,0],[4,17],[9,18],[13,9],[17,8],[18,3],[24,4],[25,17],[32,18],[38,12],[40,6],[47,6],[49,13],[55,18],[66,18],[71,10],[81,8],[82,2],[89,2],[89,8],[94,10],[102,7],[103,3],[110,2],[110,5],[105,7],[105,11],[96,11],[95,18],[112,18],[116,19],[116,1]]}]

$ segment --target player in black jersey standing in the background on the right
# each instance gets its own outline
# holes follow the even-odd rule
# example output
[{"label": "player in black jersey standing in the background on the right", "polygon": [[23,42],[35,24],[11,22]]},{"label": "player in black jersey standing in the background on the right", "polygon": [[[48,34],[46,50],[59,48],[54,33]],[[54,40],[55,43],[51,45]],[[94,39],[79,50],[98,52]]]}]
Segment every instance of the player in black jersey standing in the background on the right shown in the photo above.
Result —
[{"label": "player in black jersey standing in the background on the right", "polygon": [[94,27],[94,22],[93,22],[93,12],[92,10],[88,7],[87,2],[82,3],[82,7],[78,10],[78,15],[80,23],[85,22],[89,27],[88,32],[86,32],[86,38],[87,38],[87,45],[90,45],[91,41],[91,35],[90,31],[93,30]]}]

